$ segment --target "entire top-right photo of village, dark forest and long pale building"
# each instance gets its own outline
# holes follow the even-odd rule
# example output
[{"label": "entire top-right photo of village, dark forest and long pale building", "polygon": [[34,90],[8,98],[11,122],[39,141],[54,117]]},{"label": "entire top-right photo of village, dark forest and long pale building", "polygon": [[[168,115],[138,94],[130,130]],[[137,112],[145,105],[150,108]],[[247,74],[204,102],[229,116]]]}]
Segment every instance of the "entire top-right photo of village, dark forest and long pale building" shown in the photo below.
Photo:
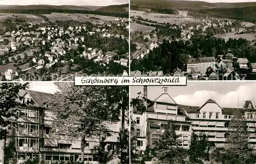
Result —
[{"label": "entire top-right photo of village, dark forest and long pale building", "polygon": [[131,0],[130,76],[256,80],[254,0]]}]

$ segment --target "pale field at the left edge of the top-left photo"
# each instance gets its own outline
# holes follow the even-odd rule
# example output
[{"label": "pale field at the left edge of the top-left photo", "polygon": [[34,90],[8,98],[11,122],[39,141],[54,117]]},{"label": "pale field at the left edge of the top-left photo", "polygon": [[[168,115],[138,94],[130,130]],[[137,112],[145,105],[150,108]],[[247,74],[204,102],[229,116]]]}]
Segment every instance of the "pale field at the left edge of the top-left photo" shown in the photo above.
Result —
[{"label": "pale field at the left edge of the top-left photo", "polygon": [[39,16],[30,15],[30,14],[10,14],[10,13],[0,13],[0,21],[5,19],[14,20],[15,18],[26,20],[27,22],[32,23],[42,23],[45,22],[45,19]]}]

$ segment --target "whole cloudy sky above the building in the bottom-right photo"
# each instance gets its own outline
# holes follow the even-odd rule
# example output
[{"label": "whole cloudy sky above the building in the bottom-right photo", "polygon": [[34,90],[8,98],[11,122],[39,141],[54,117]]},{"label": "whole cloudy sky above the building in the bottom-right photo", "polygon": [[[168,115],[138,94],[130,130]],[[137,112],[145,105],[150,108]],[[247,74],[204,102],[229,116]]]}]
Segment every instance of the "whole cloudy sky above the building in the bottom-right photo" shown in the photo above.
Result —
[{"label": "whole cloudy sky above the building in the bottom-right photo", "polygon": [[[147,98],[154,101],[163,86],[148,86]],[[131,98],[143,93],[143,86],[131,86]],[[256,82],[187,82],[187,86],[168,86],[168,94],[177,104],[202,106],[208,99],[215,100],[222,107],[242,107],[250,100],[256,105]]]}]

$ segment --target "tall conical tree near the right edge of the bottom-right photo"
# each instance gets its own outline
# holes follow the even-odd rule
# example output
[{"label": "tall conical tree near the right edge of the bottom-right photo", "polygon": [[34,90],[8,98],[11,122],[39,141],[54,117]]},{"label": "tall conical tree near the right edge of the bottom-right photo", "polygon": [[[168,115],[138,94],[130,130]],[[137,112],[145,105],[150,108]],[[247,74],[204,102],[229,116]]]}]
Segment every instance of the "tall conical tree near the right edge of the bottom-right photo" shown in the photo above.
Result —
[{"label": "tall conical tree near the right edge of the bottom-right photo", "polygon": [[228,127],[229,136],[226,139],[226,154],[231,157],[230,163],[252,163],[253,154],[252,148],[249,147],[248,138],[250,132],[247,130],[247,120],[244,117],[244,112],[238,109],[231,119]]}]

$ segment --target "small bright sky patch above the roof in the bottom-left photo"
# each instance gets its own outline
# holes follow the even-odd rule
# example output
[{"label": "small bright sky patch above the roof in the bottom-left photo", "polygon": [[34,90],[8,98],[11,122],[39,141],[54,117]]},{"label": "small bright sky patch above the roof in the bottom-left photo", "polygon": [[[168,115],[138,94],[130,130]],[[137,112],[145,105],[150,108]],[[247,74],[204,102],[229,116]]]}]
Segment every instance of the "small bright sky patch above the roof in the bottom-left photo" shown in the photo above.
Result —
[{"label": "small bright sky patch above the roof in the bottom-left photo", "polygon": [[55,93],[58,91],[58,87],[54,85],[54,82],[31,82],[28,89],[46,93]]}]

